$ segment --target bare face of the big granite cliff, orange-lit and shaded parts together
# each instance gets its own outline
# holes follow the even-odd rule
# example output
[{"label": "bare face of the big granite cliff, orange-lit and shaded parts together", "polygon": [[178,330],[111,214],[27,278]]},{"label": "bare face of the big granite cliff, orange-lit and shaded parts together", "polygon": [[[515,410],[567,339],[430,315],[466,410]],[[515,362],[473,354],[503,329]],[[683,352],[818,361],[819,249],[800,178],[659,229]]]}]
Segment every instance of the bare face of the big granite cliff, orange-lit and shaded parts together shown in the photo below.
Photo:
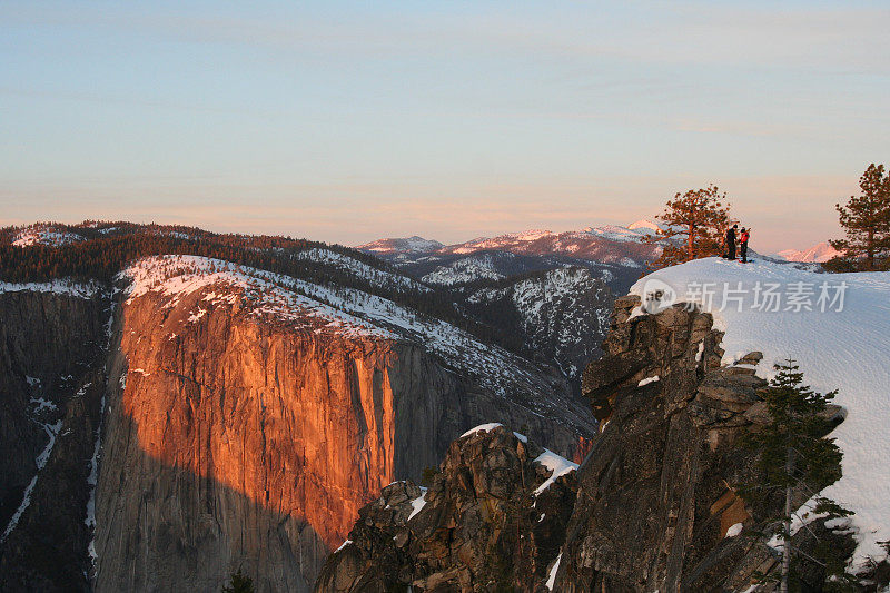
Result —
[{"label": "bare face of the big granite cliff, orange-lit and shaded parts together", "polygon": [[239,567],[258,591],[308,591],[359,508],[468,426],[524,426],[567,454],[593,426],[570,405],[554,429],[533,394],[494,393],[422,343],[237,287],[149,290],[116,327],[97,591],[215,590]]}]

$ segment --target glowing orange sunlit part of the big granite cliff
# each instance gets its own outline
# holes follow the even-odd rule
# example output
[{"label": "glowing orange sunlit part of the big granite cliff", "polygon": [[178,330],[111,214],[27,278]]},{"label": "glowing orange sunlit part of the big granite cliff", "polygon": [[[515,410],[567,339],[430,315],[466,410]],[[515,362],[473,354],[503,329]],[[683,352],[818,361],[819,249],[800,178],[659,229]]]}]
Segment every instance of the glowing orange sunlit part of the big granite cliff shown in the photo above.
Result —
[{"label": "glowing orange sunlit part of the big granite cliff", "polygon": [[206,293],[125,306],[121,412],[139,447],[305,518],[337,547],[394,480],[390,343],[234,314]]}]

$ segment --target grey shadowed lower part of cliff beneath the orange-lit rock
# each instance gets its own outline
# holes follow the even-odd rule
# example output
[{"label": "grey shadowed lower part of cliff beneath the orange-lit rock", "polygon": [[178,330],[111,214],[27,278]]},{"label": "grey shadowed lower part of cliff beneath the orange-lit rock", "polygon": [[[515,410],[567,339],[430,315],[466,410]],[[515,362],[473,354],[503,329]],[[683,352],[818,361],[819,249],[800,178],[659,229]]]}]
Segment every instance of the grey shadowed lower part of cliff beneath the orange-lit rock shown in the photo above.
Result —
[{"label": "grey shadowed lower part of cliff beneath the orange-lit rock", "polygon": [[96,591],[218,592],[237,569],[258,592],[312,590],[328,548],[297,513],[273,512],[134,442],[126,459],[103,463]]}]

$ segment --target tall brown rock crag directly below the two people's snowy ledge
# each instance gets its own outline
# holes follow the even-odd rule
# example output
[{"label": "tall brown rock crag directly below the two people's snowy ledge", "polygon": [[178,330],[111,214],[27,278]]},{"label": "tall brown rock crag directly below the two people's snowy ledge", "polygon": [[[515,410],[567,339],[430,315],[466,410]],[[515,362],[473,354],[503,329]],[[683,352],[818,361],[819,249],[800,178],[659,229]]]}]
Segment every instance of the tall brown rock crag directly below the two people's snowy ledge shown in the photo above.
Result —
[{"label": "tall brown rock crag directly below the two people's snowy ledge", "polygon": [[[710,314],[675,305],[634,316],[619,299],[605,355],[584,376],[602,434],[578,473],[555,591],[742,591],[775,554],[761,530],[779,500],[749,504],[739,437],[765,422],[762,355],[721,366]],[[798,504],[809,498],[798,493]]]}]

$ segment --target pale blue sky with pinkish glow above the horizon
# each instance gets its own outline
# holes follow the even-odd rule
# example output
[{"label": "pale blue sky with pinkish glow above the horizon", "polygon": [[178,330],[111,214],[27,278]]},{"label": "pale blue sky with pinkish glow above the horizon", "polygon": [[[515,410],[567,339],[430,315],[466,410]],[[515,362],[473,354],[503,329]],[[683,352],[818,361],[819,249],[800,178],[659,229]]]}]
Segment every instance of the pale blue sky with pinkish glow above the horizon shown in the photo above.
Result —
[{"label": "pale blue sky with pinkish glow above the horizon", "polygon": [[0,2],[0,226],[357,245],[652,218],[764,253],[890,165],[881,2]]}]

